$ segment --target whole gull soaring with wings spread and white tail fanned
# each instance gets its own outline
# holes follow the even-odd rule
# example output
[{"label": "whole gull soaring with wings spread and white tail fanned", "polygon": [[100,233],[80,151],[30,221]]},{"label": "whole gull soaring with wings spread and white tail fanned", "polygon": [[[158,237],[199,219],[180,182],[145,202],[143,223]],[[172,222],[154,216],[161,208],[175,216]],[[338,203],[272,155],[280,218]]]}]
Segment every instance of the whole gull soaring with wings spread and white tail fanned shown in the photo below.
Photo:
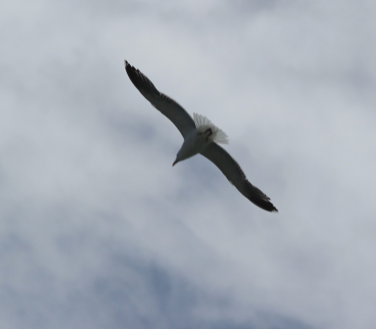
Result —
[{"label": "whole gull soaring with wings spread and white tail fanned", "polygon": [[208,118],[197,113],[192,117],[176,101],[156,89],[152,81],[124,60],[130,81],[138,91],[179,129],[184,141],[173,166],[198,153],[213,162],[232,185],[256,206],[271,212],[277,208],[260,189],[246,178],[240,165],[217,143],[228,144],[227,135]]}]

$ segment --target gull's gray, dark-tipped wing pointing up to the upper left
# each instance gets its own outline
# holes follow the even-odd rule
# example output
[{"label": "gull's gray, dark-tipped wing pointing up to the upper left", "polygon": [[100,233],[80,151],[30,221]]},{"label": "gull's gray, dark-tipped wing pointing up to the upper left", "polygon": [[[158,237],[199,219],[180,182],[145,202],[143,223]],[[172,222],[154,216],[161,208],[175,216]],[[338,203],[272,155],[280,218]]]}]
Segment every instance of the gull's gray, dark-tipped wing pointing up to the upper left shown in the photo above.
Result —
[{"label": "gull's gray, dark-tipped wing pointing up to the upper left", "polygon": [[146,75],[131,66],[126,60],[124,63],[130,81],[157,110],[173,122],[183,137],[196,129],[191,116],[176,101],[159,92]]}]

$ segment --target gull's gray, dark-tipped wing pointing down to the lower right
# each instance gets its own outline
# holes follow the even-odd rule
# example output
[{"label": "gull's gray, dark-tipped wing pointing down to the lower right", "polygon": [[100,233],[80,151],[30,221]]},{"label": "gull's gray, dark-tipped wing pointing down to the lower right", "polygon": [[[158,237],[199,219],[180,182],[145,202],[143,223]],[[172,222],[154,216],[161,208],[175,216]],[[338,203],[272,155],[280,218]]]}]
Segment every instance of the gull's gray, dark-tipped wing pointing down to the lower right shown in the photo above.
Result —
[{"label": "gull's gray, dark-tipped wing pointing down to the lower right", "polygon": [[200,153],[213,162],[222,171],[230,183],[232,183],[247,199],[256,204],[256,206],[268,211],[278,211],[270,202],[270,198],[247,180],[246,175],[243,173],[243,170],[241,170],[238,162],[236,162],[229,153],[217,143],[213,142],[209,144],[208,147]]}]

